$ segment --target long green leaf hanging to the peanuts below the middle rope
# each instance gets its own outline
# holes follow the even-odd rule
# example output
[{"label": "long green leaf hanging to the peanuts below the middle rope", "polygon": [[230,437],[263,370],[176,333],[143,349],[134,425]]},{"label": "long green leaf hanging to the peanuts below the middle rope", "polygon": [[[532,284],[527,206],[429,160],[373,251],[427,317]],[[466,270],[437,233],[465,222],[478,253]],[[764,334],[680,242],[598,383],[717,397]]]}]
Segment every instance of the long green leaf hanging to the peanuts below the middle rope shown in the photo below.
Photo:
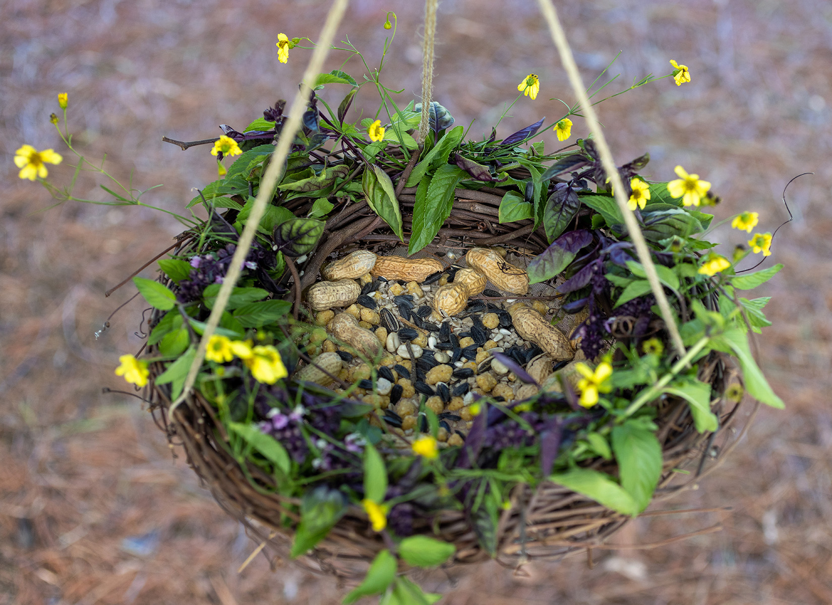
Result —
[{"label": "long green leaf hanging to the peanuts below the middle rope", "polygon": [[[436,237],[439,229],[451,214],[453,207],[453,191],[459,181],[462,181],[468,173],[451,164],[443,164],[433,175],[433,178],[426,176],[419,183],[416,191],[416,203],[414,205],[414,226],[410,234],[408,254],[414,254],[428,245]],[[423,182],[428,181],[427,191],[423,191]]]}]

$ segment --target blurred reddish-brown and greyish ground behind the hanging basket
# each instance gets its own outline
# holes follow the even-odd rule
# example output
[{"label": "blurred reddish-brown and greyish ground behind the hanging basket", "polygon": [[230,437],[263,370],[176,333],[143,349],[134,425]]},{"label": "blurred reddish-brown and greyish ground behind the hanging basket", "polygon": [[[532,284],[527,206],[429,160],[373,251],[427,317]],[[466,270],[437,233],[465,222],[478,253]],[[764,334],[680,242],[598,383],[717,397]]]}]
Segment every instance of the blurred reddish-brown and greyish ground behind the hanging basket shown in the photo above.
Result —
[{"label": "blurred reddish-brown and greyish ground behind the hanging basket", "polygon": [[[649,178],[681,164],[711,181],[720,220],[760,212],[775,237],[767,265],[786,268],[755,296],[770,295],[775,325],[759,338],[761,364],[787,409],[761,410],[740,445],[698,489],[656,509],[721,508],[630,523],[618,548],[597,549],[522,573],[486,563],[424,578],[443,603],[832,603],[832,4],[826,0],[582,0],[557,2],[584,80],[607,63],[617,92],[675,59],[692,82],[671,78],[604,102],[600,117],[619,164],[650,151]],[[42,187],[17,178],[22,144],[64,156],[50,180],[72,177],[71,154],[49,123],[57,93],[69,96],[77,148],[142,198],[184,211],[192,187],[213,181],[209,146],[183,141],[242,130],[279,98],[291,98],[310,51],[277,60],[278,32],[318,35],[329,2],[265,0],[5,0],[0,4],[0,604],[338,603],[344,589],[290,564],[271,569],[256,544],[222,513],[169,449],[141,401],[113,374],[135,353],[143,305],[134,300],[94,333],[130,286],[104,292],[171,245],[181,226],[146,209],[69,203],[49,208]],[[382,73],[404,105],[418,97],[422,2],[354,0],[339,29],[378,65],[385,12],[399,29]],[[327,70],[345,52],[332,52]],[[470,135],[505,136],[574,102],[537,3],[443,0],[434,97]],[[344,70],[361,79],[364,67]],[[344,87],[321,93],[337,106]],[[377,107],[369,87],[362,107]],[[586,136],[573,118],[572,140]],[[548,123],[548,122],[547,122]],[[553,133],[542,135],[556,149]],[[76,195],[106,200],[100,178]],[[745,232],[721,228],[726,244]],[[151,277],[151,270],[142,275]],[[721,523],[720,533],[671,538]],[[663,541],[668,541],[663,543]],[[657,548],[626,548],[662,543]]]}]

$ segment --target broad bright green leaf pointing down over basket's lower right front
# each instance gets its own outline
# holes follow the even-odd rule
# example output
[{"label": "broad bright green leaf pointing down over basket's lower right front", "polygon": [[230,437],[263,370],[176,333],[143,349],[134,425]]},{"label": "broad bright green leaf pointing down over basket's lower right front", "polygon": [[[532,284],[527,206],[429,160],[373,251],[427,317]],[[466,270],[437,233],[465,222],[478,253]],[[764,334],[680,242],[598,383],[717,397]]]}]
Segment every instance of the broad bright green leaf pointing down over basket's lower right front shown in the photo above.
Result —
[{"label": "broad bright green leaf pointing down over basket's lower right front", "polygon": [[622,488],[632,496],[641,513],[661,478],[661,444],[653,431],[626,422],[612,429],[612,451],[616,454]]}]

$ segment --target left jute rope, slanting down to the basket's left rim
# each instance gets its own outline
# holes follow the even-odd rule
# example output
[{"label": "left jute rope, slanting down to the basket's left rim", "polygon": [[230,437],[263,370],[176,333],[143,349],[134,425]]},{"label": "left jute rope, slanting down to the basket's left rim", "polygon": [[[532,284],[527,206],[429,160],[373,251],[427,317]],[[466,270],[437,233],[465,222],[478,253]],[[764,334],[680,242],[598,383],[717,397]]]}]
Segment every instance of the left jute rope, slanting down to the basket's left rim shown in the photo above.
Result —
[{"label": "left jute rope, slanting down to the basket's left rim", "polygon": [[280,131],[280,138],[277,140],[277,146],[271,156],[269,166],[265,170],[263,178],[260,180],[260,191],[257,192],[255,205],[251,209],[249,220],[245,224],[240,235],[240,241],[237,242],[237,249],[234,256],[231,258],[231,264],[228,267],[228,273],[225,275],[225,280],[220,286],[220,292],[216,297],[214,309],[211,310],[210,316],[206,323],[205,332],[202,334],[200,345],[196,349],[196,357],[191,363],[191,369],[188,370],[188,375],[185,379],[185,385],[182,389],[182,394],[171,404],[170,413],[176,409],[176,406],[185,400],[187,394],[191,391],[196,375],[199,373],[202,360],[205,358],[208,340],[214,334],[216,326],[220,324],[220,317],[225,310],[225,305],[228,304],[228,299],[231,295],[231,290],[237,284],[237,279],[240,277],[245,257],[248,256],[251,248],[251,242],[254,241],[255,232],[260,225],[260,219],[265,214],[266,206],[270,202],[271,191],[275,188],[280,176],[283,172],[286,158],[289,156],[291,144],[295,141],[295,134],[300,128],[300,118],[306,108],[306,103],[310,97],[312,90],[311,84],[315,78],[318,77],[321,67],[324,65],[324,59],[329,53],[329,47],[332,46],[332,41],[335,36],[335,30],[338,28],[341,19],[344,17],[344,11],[347,8],[349,0],[334,0],[332,7],[329,8],[329,13],[326,16],[324,27],[320,31],[318,37],[318,45],[312,52],[309,65],[304,72],[303,83],[300,89],[295,94],[295,99],[289,109],[289,118],[285,121],[283,130]]}]

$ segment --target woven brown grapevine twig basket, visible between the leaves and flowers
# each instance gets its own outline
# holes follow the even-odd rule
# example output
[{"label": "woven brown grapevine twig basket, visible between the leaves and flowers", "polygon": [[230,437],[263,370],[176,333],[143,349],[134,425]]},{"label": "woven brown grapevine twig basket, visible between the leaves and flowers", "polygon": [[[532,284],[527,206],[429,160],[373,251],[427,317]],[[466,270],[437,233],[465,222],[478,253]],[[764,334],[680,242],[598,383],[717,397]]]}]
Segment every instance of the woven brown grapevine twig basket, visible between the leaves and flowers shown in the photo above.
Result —
[{"label": "woven brown grapevine twig basket, visible between the leaves and flowers", "polygon": [[[529,176],[524,168],[509,171],[508,174],[517,179]],[[406,245],[412,229],[416,191],[415,187],[404,188],[400,172],[390,171],[389,176],[394,184],[399,185],[397,196],[404,217]],[[532,220],[498,222],[498,206],[506,191],[496,183],[478,191],[456,190],[448,221],[419,255],[438,259],[447,268],[473,246],[501,246],[518,263],[545,250],[548,245],[546,233],[542,227],[535,229]],[[348,201],[337,196],[329,201],[334,204],[334,209],[326,220],[324,235],[305,261],[296,267],[302,271],[302,277],[295,266],[290,266],[291,270],[285,272],[282,282],[286,289],[283,296],[285,300],[292,301],[295,319],[299,316],[303,318],[302,293],[318,278],[319,270],[327,260],[342,257],[353,250],[372,250],[378,255],[401,254],[402,242],[365,201]],[[313,203],[310,198],[296,198],[288,204],[288,209],[295,216],[305,216]],[[231,223],[234,215],[235,211],[226,212],[224,219],[218,223]],[[217,221],[217,218],[213,220]],[[199,239],[193,232],[182,234],[174,254],[186,256],[201,253],[197,241]],[[210,245],[210,238],[202,241],[204,246]],[[176,291],[176,284],[166,275],[159,279]],[[552,296],[547,295],[554,291],[553,285],[557,285],[557,278],[537,285],[530,296],[541,295],[548,302],[552,300]],[[489,287],[493,288],[493,285]],[[716,309],[715,299],[707,302],[711,310]],[[154,310],[151,327],[161,319],[161,315],[160,311]],[[569,316],[564,321],[562,327],[567,331],[571,327]],[[631,328],[632,322],[626,317],[618,318],[617,340],[626,342]],[[654,334],[664,330],[656,316],[651,329]],[[148,352],[153,354],[154,346],[149,347]],[[188,464],[210,489],[220,507],[244,523],[259,542],[265,543],[266,553],[270,556],[290,558],[295,528],[300,521],[300,498],[280,495],[274,476],[266,474],[255,464],[241,464],[231,454],[228,434],[217,419],[215,407],[198,390],[192,391],[185,402],[170,414],[171,385],[156,384],[154,381],[164,369],[159,362],[151,364],[150,368],[149,399],[156,424],[166,433],[171,444],[181,445]],[[711,411],[720,420],[719,429],[716,433],[698,432],[683,399],[665,395],[651,403],[656,409],[657,437],[663,454],[661,479],[654,501],[668,498],[701,479],[738,439],[732,424],[742,403],[723,396],[726,386],[738,379],[731,358],[711,352],[706,359],[700,360],[698,378],[711,384],[712,393],[716,394],[711,400]],[[617,474],[615,462],[600,457],[589,461],[587,466],[612,476]],[[684,467],[691,469],[690,474],[675,472]],[[683,482],[678,480],[680,477]],[[488,553],[483,548],[461,510],[445,509],[434,511],[429,517],[417,518],[414,533],[453,543],[456,551],[447,564],[477,563],[491,558],[493,554],[498,563],[516,568],[527,561],[558,559],[567,553],[597,546],[610,538],[629,518],[579,493],[544,481],[534,489],[523,484],[513,488],[508,506],[499,514],[496,553]],[[295,563],[314,573],[354,581],[364,574],[367,564],[382,548],[387,548],[382,536],[369,527],[364,510],[353,505],[327,537],[305,555],[295,558]]]}]

